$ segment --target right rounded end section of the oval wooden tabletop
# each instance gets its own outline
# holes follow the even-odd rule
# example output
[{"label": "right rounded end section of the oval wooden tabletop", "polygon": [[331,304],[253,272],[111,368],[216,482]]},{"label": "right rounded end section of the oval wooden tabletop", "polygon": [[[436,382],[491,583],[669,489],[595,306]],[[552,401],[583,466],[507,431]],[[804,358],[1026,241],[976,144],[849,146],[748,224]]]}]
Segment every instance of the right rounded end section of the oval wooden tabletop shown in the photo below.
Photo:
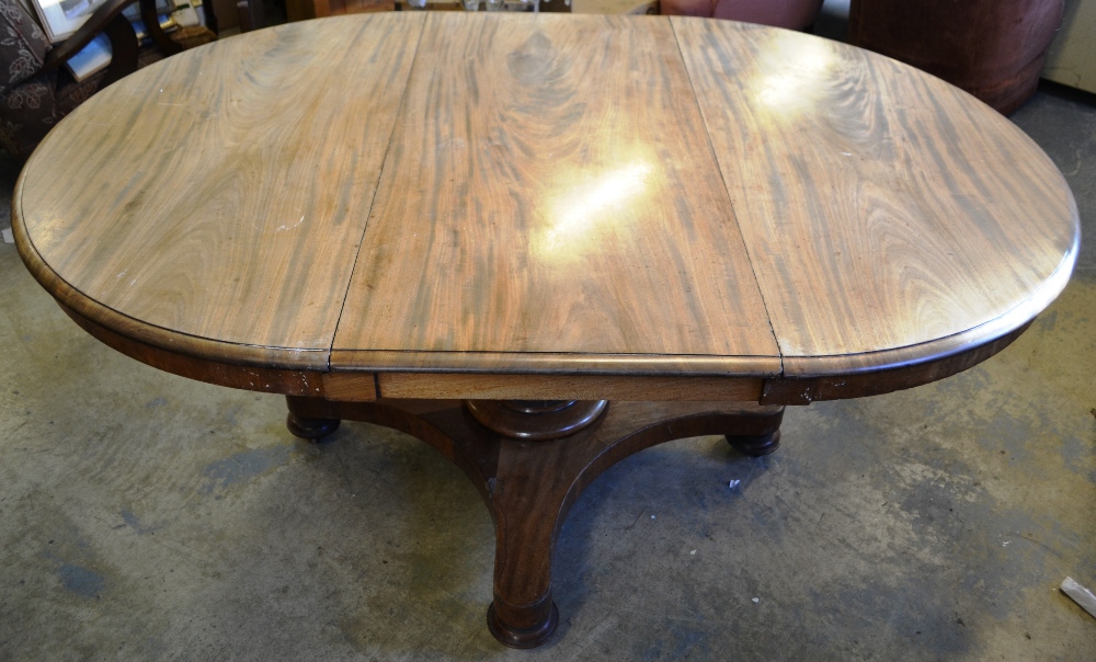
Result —
[{"label": "right rounded end section of the oval wooden tabletop", "polygon": [[1007,119],[835,42],[672,22],[785,375],[923,361],[981,327],[959,349],[973,346],[1064,287],[1072,195]]}]

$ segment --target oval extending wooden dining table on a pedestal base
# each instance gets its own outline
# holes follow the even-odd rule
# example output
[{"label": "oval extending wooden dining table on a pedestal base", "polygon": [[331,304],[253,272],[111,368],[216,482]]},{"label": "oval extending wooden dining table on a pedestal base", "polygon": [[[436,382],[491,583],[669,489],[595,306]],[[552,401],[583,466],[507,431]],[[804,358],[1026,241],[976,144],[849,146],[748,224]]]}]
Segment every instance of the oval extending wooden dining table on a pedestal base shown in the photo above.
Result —
[{"label": "oval extending wooden dining table on a pedestal base", "polygon": [[902,64],[677,16],[293,23],[125,78],[49,133],[26,266],[137,361],[401,430],[481,492],[490,631],[558,624],[552,549],[670,440],[1000,352],[1065,286],[1076,206],[1016,126]]}]

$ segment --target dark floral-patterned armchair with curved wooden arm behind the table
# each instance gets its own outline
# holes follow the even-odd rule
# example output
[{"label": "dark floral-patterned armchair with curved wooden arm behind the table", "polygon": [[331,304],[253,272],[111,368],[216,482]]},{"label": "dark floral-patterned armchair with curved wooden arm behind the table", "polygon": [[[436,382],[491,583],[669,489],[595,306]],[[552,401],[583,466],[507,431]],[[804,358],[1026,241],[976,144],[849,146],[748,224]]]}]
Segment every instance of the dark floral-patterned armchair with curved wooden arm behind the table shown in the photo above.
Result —
[{"label": "dark floral-patterned armchair with curved wooden arm behind the table", "polygon": [[[146,19],[146,25],[155,25],[149,30],[153,44],[139,47],[133,26],[122,15],[135,1],[110,0],[76,34],[50,46],[19,0],[0,0],[0,146],[25,160],[61,117],[98,90],[168,55],[217,38],[202,26],[164,34],[158,21]],[[142,15],[156,15],[155,0],[140,4]],[[100,33],[111,39],[111,66],[77,82],[61,65]]]}]

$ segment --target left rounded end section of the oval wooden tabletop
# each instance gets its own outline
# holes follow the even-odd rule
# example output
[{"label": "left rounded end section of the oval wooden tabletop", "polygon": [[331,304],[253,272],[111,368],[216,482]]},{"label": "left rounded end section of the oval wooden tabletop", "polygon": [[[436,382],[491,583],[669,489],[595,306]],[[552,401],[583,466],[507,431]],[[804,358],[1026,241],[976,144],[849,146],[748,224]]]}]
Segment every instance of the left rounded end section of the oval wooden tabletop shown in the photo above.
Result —
[{"label": "left rounded end section of the oval wooden tabletop", "polygon": [[21,176],[32,271],[142,342],[327,368],[422,22],[284,25],[95,95]]}]

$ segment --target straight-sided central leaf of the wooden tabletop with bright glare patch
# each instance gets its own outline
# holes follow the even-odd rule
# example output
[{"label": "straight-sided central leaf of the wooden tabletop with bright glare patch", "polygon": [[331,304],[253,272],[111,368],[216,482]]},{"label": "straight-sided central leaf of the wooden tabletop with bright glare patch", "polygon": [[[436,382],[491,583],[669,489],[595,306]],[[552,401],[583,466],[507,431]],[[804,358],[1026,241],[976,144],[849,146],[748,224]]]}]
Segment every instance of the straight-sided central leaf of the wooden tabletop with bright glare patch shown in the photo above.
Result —
[{"label": "straight-sided central leaf of the wooden tabletop with bright glare patch", "polygon": [[666,21],[430,15],[332,362],[363,350],[779,370]]}]

